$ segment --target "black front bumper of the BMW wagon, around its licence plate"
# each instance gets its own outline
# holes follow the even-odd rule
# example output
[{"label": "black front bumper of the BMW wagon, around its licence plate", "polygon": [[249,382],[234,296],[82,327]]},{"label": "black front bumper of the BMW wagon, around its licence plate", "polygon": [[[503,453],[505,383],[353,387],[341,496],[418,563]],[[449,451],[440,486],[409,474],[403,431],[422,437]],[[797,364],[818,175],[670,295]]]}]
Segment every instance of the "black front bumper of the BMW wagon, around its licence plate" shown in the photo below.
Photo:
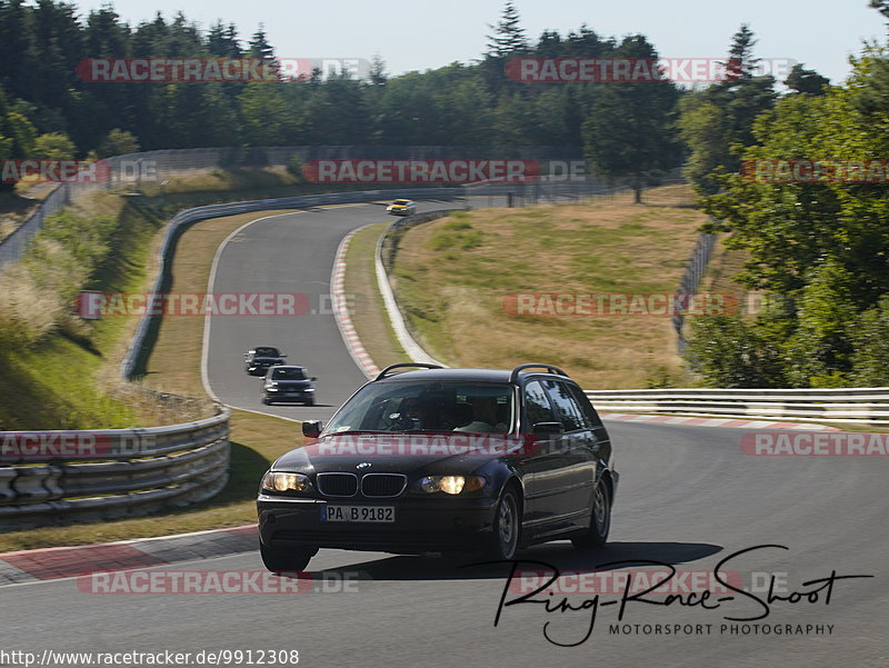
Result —
[{"label": "black front bumper of the BMW wagon, around its licence plate", "polygon": [[[396,521],[321,521],[321,506],[394,506]],[[497,499],[346,498],[257,500],[259,538],[268,547],[318,547],[397,555],[467,551],[481,547],[493,530]]]}]

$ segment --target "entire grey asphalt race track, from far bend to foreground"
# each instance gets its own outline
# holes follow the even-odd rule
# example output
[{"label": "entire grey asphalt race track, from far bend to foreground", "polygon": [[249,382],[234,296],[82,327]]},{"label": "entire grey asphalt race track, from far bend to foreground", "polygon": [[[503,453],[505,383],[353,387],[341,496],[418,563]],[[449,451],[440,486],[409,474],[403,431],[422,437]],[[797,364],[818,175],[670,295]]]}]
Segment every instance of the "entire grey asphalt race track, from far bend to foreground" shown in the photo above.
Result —
[{"label": "entire grey asphalt race track, from far bend to foreground", "polygon": [[[421,205],[434,208],[442,202]],[[327,293],[339,240],[383,219],[381,207],[364,205],[258,222],[222,252],[214,290]],[[242,353],[252,345],[279,345],[289,361],[308,366],[319,377],[322,406],[261,406],[260,380],[242,367]],[[210,382],[227,403],[296,419],[329,416],[364,380],[332,316],[296,321],[217,318],[209,359]],[[885,457],[752,457],[739,446],[748,430],[630,422],[608,427],[621,472],[611,541],[587,551],[555,542],[525,550],[521,559],[563,571],[602,572],[632,568],[602,566],[612,561],[657,561],[706,575],[747,548],[786,546],[747,552],[723,567],[745,586],[755,578],[756,596],[763,600],[766,572],[778,574],[775,594],[785,597],[818,589],[803,584],[831,571],[875,577],[837,580],[829,604],[826,589],[816,601],[802,597],[768,607],[726,590],[715,590],[705,601],[715,609],[681,605],[691,602],[688,594],[670,606],[629,600],[617,629],[612,625],[618,624],[620,590],[600,592],[598,610],[595,590],[565,594],[572,609],[548,612],[562,600],[559,594],[549,597],[550,606],[505,607],[495,627],[506,565],[460,567],[434,557],[321,550],[310,564],[313,590],[306,594],[97,595],[84,591],[77,579],[6,587],[7,645],[37,652],[296,649],[300,666],[362,668],[889,666]],[[154,570],[261,569],[259,555],[249,554]],[[698,604],[702,589],[707,587],[695,589]],[[733,600],[718,600],[730,595]],[[505,601],[517,597],[507,592]],[[665,601],[655,594],[646,598]],[[593,610],[595,627],[582,641]],[[766,611],[767,617],[751,619]],[[749,625],[747,632],[743,624]],[[812,626],[796,635],[797,625],[803,631]],[[788,626],[795,635],[787,634]]]}]

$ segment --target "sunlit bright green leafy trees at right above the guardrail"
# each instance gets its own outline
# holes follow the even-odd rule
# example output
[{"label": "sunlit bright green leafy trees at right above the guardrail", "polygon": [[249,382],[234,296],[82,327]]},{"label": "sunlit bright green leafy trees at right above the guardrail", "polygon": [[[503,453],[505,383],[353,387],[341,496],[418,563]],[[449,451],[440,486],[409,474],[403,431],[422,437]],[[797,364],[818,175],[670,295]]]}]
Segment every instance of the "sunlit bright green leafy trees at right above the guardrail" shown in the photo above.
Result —
[{"label": "sunlit bright green leafy trees at right above the guardrail", "polygon": [[[871,0],[889,19],[889,2]],[[688,171],[709,231],[747,259],[737,280],[759,312],[701,319],[691,352],[720,387],[889,385],[889,51],[867,44],[841,86],[796,71],[798,91],[751,114],[719,90],[685,100]],[[756,101],[759,96],[759,101]],[[713,142],[708,132],[730,142]],[[745,164],[745,175],[739,168]]]}]

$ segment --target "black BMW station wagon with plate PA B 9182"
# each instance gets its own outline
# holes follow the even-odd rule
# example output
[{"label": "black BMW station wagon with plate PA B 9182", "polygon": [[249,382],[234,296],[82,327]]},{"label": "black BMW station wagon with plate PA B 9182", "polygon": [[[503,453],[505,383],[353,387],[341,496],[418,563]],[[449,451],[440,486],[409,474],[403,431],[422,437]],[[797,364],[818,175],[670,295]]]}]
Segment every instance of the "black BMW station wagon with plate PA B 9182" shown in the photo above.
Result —
[{"label": "black BMW station wagon with plate PA B 9182", "polygon": [[302,570],[319,548],[503,560],[531,544],[608,538],[611,441],[557,367],[393,365],[327,426],[307,420],[302,431],[313,442],[280,457],[260,483],[269,570]]}]

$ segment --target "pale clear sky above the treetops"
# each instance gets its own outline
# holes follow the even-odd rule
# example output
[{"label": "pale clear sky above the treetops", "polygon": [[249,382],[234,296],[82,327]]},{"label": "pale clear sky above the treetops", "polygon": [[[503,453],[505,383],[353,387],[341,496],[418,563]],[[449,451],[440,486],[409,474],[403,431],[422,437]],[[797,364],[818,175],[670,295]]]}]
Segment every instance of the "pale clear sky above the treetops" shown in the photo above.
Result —
[{"label": "pale clear sky above the treetops", "polygon": [[[74,0],[82,14],[108,0]],[[242,38],[260,23],[280,58],[366,59],[379,54],[390,74],[470,62],[486,49],[488,23],[496,23],[503,0],[114,0],[132,26],[157,11],[180,9],[201,28],[217,19],[234,23]],[[546,30],[562,34],[586,23],[602,37],[641,33],[663,58],[725,58],[732,36],[748,23],[762,59],[803,62],[839,83],[849,73],[848,57],[862,40],[886,40],[886,21],[868,0],[515,0],[532,41]],[[579,53],[579,57],[585,56]]]}]

